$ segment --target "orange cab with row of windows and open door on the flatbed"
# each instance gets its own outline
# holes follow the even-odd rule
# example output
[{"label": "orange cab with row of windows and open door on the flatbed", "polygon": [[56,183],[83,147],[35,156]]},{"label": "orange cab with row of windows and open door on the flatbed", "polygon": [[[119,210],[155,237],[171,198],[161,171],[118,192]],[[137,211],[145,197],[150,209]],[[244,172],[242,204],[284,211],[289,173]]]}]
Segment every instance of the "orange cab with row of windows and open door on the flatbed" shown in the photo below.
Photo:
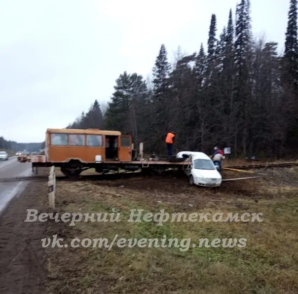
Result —
[{"label": "orange cab with row of windows and open door on the flatbed", "polygon": [[53,163],[70,160],[92,163],[96,155],[101,155],[103,162],[129,162],[132,160],[132,139],[118,131],[47,129],[45,152],[47,161]]}]

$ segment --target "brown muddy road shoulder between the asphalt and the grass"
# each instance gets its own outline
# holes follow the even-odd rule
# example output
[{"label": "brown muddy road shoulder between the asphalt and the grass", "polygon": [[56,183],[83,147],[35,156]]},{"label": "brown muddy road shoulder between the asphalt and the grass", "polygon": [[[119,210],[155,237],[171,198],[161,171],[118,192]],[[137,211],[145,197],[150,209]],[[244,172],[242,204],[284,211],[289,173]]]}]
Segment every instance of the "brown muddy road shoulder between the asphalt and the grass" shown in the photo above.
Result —
[{"label": "brown muddy road shoulder between the asphalt and the grass", "polygon": [[26,209],[44,211],[46,183],[29,183],[0,216],[0,293],[45,292],[46,253],[40,246],[46,224],[24,222]]}]

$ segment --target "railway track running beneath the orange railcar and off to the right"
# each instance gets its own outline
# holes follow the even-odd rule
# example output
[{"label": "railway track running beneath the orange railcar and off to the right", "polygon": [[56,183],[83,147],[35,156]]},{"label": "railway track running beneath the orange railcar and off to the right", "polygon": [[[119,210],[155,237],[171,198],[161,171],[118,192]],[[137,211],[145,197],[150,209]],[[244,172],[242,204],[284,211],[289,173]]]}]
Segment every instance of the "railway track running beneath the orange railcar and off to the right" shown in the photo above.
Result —
[{"label": "railway track running beneath the orange railcar and off to the right", "polygon": [[[223,169],[231,170],[248,170],[248,169],[262,169],[262,168],[274,168],[274,167],[292,167],[298,166],[298,162],[283,162],[283,163],[265,163],[265,164],[249,164],[249,165],[229,165],[225,166]],[[98,175],[81,175],[75,180],[114,180],[119,178],[132,178],[132,177],[142,177],[144,174],[137,172],[129,173],[115,173],[115,174],[98,174]],[[20,181],[44,181],[47,180],[47,176],[30,176],[30,177],[16,177],[16,178],[3,178],[0,179],[1,183],[5,182],[20,182]],[[65,176],[56,176],[58,181],[74,181],[74,179],[69,179]]]}]

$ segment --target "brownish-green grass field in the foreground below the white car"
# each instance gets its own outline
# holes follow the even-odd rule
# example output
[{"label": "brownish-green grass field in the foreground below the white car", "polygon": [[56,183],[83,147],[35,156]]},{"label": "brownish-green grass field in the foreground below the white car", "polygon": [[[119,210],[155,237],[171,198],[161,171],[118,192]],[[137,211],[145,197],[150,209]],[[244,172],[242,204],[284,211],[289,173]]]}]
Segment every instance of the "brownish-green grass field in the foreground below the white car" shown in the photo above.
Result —
[{"label": "brownish-green grass field in the foreground below the white car", "polygon": [[[120,211],[119,222],[50,222],[47,234],[108,238],[246,238],[245,248],[48,248],[50,293],[297,293],[298,168],[265,178],[190,187],[184,177],[57,182],[63,212]],[[226,175],[237,177],[237,174]],[[241,175],[243,176],[243,175]],[[263,213],[262,222],[127,222],[130,209]]]}]

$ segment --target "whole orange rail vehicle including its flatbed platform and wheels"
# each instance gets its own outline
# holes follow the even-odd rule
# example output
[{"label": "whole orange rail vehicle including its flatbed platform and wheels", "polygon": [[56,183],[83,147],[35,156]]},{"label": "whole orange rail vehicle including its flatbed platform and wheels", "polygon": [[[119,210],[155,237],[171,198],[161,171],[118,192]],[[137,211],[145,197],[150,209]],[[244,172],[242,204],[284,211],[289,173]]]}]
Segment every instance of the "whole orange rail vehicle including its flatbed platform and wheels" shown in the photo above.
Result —
[{"label": "whole orange rail vehicle including its flatbed platform and wheels", "polygon": [[45,155],[18,158],[20,162],[32,162],[32,168],[57,166],[68,177],[78,177],[86,169],[94,168],[98,173],[110,171],[137,171],[154,168],[189,168],[188,160],[166,158],[149,160],[143,158],[143,144],[136,156],[131,136],[118,131],[99,129],[47,129]]}]

